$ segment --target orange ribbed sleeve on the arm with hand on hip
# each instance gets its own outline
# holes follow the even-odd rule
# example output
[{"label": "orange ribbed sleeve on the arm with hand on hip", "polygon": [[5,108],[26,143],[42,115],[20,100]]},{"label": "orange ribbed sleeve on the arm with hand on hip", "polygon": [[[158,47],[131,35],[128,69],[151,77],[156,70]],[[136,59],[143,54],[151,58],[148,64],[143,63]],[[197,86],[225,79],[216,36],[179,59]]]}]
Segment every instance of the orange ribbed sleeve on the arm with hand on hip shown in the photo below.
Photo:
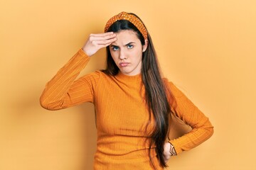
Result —
[{"label": "orange ribbed sleeve on the arm with hand on hip", "polygon": [[171,107],[172,111],[178,118],[192,128],[186,135],[169,141],[174,145],[176,153],[179,154],[208,140],[208,138],[213,135],[213,126],[206,115],[204,115],[179,89],[177,89],[174,84],[169,83],[169,87],[175,99],[175,102]]}]

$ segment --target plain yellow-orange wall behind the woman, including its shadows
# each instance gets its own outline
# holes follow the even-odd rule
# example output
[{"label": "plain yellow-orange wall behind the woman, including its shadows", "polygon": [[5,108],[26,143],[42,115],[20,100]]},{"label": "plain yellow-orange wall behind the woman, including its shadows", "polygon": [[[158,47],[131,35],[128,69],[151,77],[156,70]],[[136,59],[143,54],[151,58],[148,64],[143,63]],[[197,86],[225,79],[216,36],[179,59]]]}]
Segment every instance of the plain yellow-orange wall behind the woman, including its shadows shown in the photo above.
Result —
[{"label": "plain yellow-orange wall behind the woman, including its shadows", "polygon": [[[164,75],[215,126],[169,169],[255,169],[256,2],[249,0],[1,0],[0,169],[92,169],[92,104],[46,111],[38,100],[87,36],[120,11],[142,18]],[[82,74],[104,61],[101,50]]]}]

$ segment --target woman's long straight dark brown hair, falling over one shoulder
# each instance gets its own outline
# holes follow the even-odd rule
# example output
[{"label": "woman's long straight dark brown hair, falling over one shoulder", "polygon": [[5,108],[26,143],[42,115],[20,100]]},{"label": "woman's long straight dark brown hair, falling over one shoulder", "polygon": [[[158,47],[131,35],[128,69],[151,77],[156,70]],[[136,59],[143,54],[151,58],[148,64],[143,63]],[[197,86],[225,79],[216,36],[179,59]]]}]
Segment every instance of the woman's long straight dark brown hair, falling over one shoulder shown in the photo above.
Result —
[{"label": "woman's long straight dark brown hair, falling over one shoulder", "polygon": [[[137,18],[139,18],[134,13],[129,13]],[[141,19],[139,18],[141,21]],[[143,23],[143,22],[142,22]],[[146,28],[146,27],[145,27]],[[107,32],[117,33],[120,30],[133,30],[137,33],[137,37],[145,44],[144,37],[142,33],[134,26],[131,22],[127,20],[118,20],[110,26]],[[151,40],[151,36],[148,33],[148,47],[146,51],[142,54],[142,83],[145,87],[145,101],[150,113],[154,115],[154,130],[150,135],[150,145],[149,145],[149,158],[154,169],[156,168],[154,162],[151,159],[150,149],[153,145],[156,145],[156,154],[161,166],[166,167],[167,164],[164,161],[164,143],[169,132],[169,118],[171,118],[171,106],[168,97],[170,93],[166,86],[166,83],[161,78],[159,64],[156,58],[156,52],[154,50],[154,45]],[[107,47],[107,68],[103,70],[105,74],[110,74],[112,76],[117,75],[119,69],[114,63],[114,60],[110,54],[110,47]],[[149,117],[151,119],[151,117]]]}]

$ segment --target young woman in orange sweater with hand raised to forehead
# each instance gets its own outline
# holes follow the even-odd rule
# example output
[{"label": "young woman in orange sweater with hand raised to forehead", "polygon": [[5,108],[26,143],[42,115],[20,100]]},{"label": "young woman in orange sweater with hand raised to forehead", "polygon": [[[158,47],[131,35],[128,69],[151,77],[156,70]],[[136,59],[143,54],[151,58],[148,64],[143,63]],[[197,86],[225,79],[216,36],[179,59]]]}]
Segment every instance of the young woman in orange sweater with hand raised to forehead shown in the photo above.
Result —
[{"label": "young woman in orange sweater with hand raised to forehead", "polygon": [[[76,79],[103,47],[107,68]],[[105,33],[91,34],[41,95],[41,106],[48,110],[84,102],[95,105],[97,170],[164,169],[171,156],[213,134],[208,118],[161,77],[149,32],[134,13],[119,13],[107,22]],[[190,125],[191,132],[169,140],[172,115]]]}]

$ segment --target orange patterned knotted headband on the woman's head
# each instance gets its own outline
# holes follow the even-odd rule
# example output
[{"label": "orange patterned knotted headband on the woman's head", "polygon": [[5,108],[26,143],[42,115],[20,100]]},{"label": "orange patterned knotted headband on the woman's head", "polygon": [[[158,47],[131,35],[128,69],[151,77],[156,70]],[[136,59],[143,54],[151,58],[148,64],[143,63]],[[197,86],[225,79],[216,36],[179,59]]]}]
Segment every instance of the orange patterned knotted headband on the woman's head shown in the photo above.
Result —
[{"label": "orange patterned knotted headband on the woman's head", "polygon": [[139,32],[142,33],[144,39],[147,40],[147,31],[146,31],[146,28],[143,25],[142,21],[140,21],[139,18],[137,18],[136,16],[126,13],[126,12],[119,13],[116,16],[113,16],[112,18],[110,18],[110,20],[107,21],[107,24],[105,26],[105,33],[110,28],[110,26],[115,21],[118,21],[118,20],[130,21],[134,26],[136,26],[136,28],[138,28]]}]

